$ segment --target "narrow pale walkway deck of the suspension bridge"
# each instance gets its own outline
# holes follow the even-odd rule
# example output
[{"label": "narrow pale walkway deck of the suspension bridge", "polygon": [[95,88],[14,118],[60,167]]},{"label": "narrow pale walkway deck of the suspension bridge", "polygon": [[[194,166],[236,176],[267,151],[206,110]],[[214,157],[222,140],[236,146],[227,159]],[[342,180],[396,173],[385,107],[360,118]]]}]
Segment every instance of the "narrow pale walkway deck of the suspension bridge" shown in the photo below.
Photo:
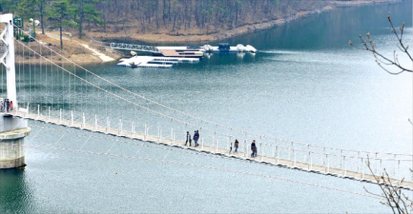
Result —
[{"label": "narrow pale walkway deck of the suspension bridge", "polygon": [[[344,169],[337,169],[337,168],[326,167],[326,166],[321,166],[321,165],[316,165],[316,164],[308,164],[305,162],[297,162],[293,160],[285,160],[279,157],[273,158],[269,156],[258,155],[256,158],[251,158],[249,153],[245,153],[242,151],[237,152],[237,153],[229,153],[229,151],[226,149],[217,148],[217,147],[208,147],[204,145],[200,145],[200,147],[196,147],[196,148],[188,147],[184,145],[184,142],[173,140],[171,138],[151,136],[151,135],[142,134],[142,133],[133,133],[132,131],[114,129],[112,127],[108,130],[107,127],[101,127],[101,126],[91,125],[91,124],[82,123],[82,122],[74,122],[74,121],[72,122],[71,120],[60,119],[60,118],[50,118],[48,116],[30,114],[30,113],[26,113],[23,111],[12,111],[9,114],[12,114],[13,116],[16,116],[19,118],[25,118],[29,120],[38,120],[42,122],[50,122],[56,125],[63,125],[67,127],[85,129],[88,131],[100,132],[100,133],[110,134],[113,136],[120,136],[124,138],[132,138],[132,139],[144,140],[148,142],[155,142],[155,143],[162,144],[162,145],[180,147],[182,149],[192,149],[194,151],[214,153],[214,154],[218,154],[221,156],[228,156],[231,158],[242,158],[244,160],[250,160],[253,162],[273,164],[279,167],[288,167],[291,169],[299,169],[302,171],[308,171],[312,173],[332,175],[332,176],[339,177],[339,178],[348,178],[348,179],[359,180],[363,182],[377,183],[374,180],[374,176],[370,174],[366,174],[366,173],[359,173],[355,171],[348,171]],[[390,180],[393,184],[396,184],[397,182],[399,182],[399,180],[394,180],[394,179],[390,179]],[[410,182],[410,181],[403,181],[401,182],[400,186],[404,189],[413,190],[413,182]]]}]

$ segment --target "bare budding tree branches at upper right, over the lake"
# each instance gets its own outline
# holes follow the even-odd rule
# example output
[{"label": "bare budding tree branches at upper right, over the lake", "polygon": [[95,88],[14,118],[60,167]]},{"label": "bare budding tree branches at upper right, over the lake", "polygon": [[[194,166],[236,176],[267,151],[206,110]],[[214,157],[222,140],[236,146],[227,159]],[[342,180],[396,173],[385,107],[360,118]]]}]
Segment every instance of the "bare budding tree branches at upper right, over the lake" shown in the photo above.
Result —
[{"label": "bare budding tree branches at upper right, over the lake", "polygon": [[[397,39],[397,47],[399,48],[399,50],[405,54],[408,58],[410,58],[410,61],[413,62],[413,58],[412,58],[412,54],[410,54],[408,52],[408,48],[409,45],[405,45],[403,43],[403,30],[405,27],[405,23],[403,22],[401,24],[401,26],[399,27],[399,30],[396,30],[394,28],[394,25],[392,23],[392,19],[390,17],[390,14],[388,14],[388,21],[392,27],[392,33],[396,36]],[[372,40],[370,33],[366,34],[366,38],[367,39],[363,39],[363,36],[359,35],[360,41],[362,43],[361,47],[357,47],[354,46],[352,41],[348,41],[349,45],[352,45],[353,47],[357,47],[363,50],[367,50],[368,52],[371,52],[374,56],[374,58],[376,58],[376,63],[377,65],[379,65],[383,70],[385,70],[386,72],[388,72],[389,74],[401,74],[402,72],[413,72],[412,67],[407,67],[407,65],[402,65],[399,61],[399,54],[397,54],[396,50],[393,51],[393,56],[389,57],[389,56],[385,56],[383,54],[381,54],[381,52],[378,52],[376,50],[376,43],[374,43],[374,41]],[[388,66],[392,66],[392,67],[397,67],[399,69],[398,72],[391,72],[388,69]]]}]

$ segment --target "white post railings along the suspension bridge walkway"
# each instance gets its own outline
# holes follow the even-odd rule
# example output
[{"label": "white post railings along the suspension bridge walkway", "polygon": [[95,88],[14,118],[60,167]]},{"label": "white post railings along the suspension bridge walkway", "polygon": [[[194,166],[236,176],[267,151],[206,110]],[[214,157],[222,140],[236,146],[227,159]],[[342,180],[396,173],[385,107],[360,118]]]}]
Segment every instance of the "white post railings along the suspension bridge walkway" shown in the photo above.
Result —
[{"label": "white post railings along the suspension bridge walkway", "polygon": [[[109,118],[97,114],[90,115],[63,109],[51,109],[50,107],[42,108],[40,105],[30,107],[25,111],[15,111],[15,115],[168,145],[184,146],[186,132],[190,131],[191,135],[193,134],[193,131],[182,125],[174,125],[173,127],[151,125],[148,122]],[[404,178],[406,181],[412,182],[410,171],[412,156],[409,154],[372,153],[297,144],[285,142],[284,140],[268,140],[267,138],[243,138],[204,130],[202,127],[200,127],[200,137],[198,142],[200,147],[196,149],[202,151],[222,153],[259,162],[270,162],[286,167],[357,178],[359,180],[372,180],[371,176],[367,178],[368,175],[372,174],[366,164],[369,160],[370,169],[375,175],[381,175],[385,170],[390,178],[394,180]],[[233,148],[230,153],[229,148],[233,147],[235,139],[239,141],[238,152],[235,153],[235,148]],[[251,158],[252,140],[257,141],[257,158]],[[192,147],[193,145],[194,142],[192,142]]]}]

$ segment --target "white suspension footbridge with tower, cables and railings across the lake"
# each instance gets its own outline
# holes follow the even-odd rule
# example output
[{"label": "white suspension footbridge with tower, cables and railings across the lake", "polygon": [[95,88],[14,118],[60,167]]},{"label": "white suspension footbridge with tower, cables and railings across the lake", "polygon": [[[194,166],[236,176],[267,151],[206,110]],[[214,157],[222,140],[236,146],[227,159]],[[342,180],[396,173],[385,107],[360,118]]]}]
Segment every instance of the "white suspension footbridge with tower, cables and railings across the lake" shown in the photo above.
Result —
[{"label": "white suspension footbridge with tower, cables and railings across the lake", "polygon": [[[5,122],[11,120],[10,117],[13,119],[9,121],[7,130],[0,130],[3,131],[0,133],[0,162],[1,156],[3,160],[21,160],[24,157],[21,138],[30,132],[27,120],[36,120],[363,182],[376,183],[374,175],[387,173],[389,184],[413,189],[412,172],[409,170],[412,154],[291,142],[198,118],[103,78],[36,39],[33,43],[15,40],[12,29],[17,27],[9,20],[10,17],[1,15],[0,22],[6,27],[0,35],[3,56],[0,94],[11,100],[14,107],[2,113]],[[14,55],[18,63],[14,63]],[[56,56],[61,58],[59,63],[51,60]],[[33,59],[36,64],[32,63]],[[6,83],[3,83],[3,73],[7,74]],[[3,89],[4,85],[7,89]],[[199,147],[185,145],[185,133],[189,130],[200,131]],[[19,134],[12,136],[15,139],[12,142],[3,140],[10,138],[10,131]],[[230,151],[235,139],[240,142],[237,152],[234,149]],[[251,157],[252,140],[257,140],[258,148],[258,156],[254,158]],[[8,149],[19,152],[8,153]]]}]

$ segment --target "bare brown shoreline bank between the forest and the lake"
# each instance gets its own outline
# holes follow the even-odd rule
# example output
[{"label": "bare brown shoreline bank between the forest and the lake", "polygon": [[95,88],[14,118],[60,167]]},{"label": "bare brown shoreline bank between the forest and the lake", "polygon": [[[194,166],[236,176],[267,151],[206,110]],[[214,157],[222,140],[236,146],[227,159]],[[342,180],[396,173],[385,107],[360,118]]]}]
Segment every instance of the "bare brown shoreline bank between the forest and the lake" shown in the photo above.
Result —
[{"label": "bare brown shoreline bank between the forest and the lake", "polygon": [[[381,3],[400,3],[409,0],[361,0],[361,1],[338,1],[334,0],[331,1],[330,6],[325,6],[324,8],[320,8],[319,10],[313,11],[300,11],[296,14],[290,15],[285,19],[275,19],[271,21],[265,21],[262,23],[255,23],[253,25],[244,25],[238,28],[234,28],[232,30],[226,30],[224,33],[222,32],[215,32],[212,34],[178,34],[178,35],[171,35],[169,33],[145,33],[145,34],[131,34],[129,36],[119,36],[116,33],[95,33],[94,38],[100,39],[132,39],[137,41],[143,41],[148,43],[184,43],[184,42],[211,42],[211,41],[220,41],[224,39],[229,39],[235,36],[240,36],[242,34],[248,34],[253,32],[259,32],[261,30],[268,30],[271,28],[275,28],[277,26],[285,25],[290,21],[295,21],[297,19],[301,19],[304,17],[308,17],[311,15],[321,14],[322,12],[327,12],[330,10],[337,10],[340,7],[353,7],[353,6],[366,6],[366,5],[374,5],[374,4],[381,4]],[[58,50],[58,46],[60,45],[59,36],[56,35],[59,32],[45,32],[45,35],[39,34],[36,39],[39,41],[43,41],[48,44],[48,46],[54,47],[54,50],[58,53],[61,53]],[[73,63],[78,65],[91,65],[96,63],[107,63],[107,62],[117,62],[120,58],[123,58],[122,54],[118,54],[114,50],[109,50],[109,48],[104,47],[94,47],[90,44],[90,39],[94,40],[93,38],[86,39],[77,39],[77,38],[68,38],[67,36],[63,36],[63,56],[69,59]],[[52,63],[65,63],[66,61],[63,60],[60,56],[45,56],[48,60],[52,61]],[[34,58],[30,58],[25,60],[16,53],[16,63],[25,63],[25,64],[32,64],[32,65],[41,65],[50,63],[47,60],[43,60],[39,62],[39,56]]]}]

